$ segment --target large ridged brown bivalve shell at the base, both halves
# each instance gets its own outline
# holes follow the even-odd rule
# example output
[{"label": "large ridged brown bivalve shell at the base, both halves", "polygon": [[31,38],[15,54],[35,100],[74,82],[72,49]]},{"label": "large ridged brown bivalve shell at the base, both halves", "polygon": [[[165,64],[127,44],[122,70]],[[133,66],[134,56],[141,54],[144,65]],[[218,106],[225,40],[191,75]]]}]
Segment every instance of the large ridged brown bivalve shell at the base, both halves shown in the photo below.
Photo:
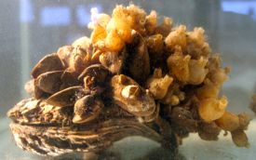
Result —
[{"label": "large ridged brown bivalve shell at the base, both halves", "polygon": [[71,107],[27,99],[21,100],[7,115],[13,120],[10,128],[18,146],[41,155],[97,152],[128,136],[143,136],[159,142],[162,140],[153,128],[139,123],[122,111],[117,111],[121,113],[119,115],[114,114],[116,110],[120,108],[109,106],[104,110],[109,113],[108,116],[104,114],[107,117],[97,117],[97,123],[84,121],[75,125],[73,121],[76,115]]}]

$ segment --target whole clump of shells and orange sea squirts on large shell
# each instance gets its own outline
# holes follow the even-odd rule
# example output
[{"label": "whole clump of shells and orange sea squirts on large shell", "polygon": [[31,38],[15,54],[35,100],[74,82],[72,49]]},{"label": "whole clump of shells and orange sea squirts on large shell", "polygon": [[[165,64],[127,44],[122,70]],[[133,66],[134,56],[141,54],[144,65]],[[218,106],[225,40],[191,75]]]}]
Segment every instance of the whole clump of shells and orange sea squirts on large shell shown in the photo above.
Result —
[{"label": "whole clump of shells and orange sea squirts on large shell", "polygon": [[157,19],[135,5],[116,6],[111,16],[92,9],[90,37],[40,60],[25,86],[32,98],[7,113],[20,148],[98,152],[139,135],[176,151],[191,132],[218,140],[221,130],[248,147],[249,116],[226,111],[220,89],[229,69],[205,31]]}]

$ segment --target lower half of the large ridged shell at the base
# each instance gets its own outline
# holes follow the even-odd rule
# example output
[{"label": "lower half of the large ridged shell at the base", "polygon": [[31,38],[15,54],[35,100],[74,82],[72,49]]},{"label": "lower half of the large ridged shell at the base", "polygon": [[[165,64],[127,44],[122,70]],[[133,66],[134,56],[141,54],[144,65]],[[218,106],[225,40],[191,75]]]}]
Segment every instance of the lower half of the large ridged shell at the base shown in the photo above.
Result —
[{"label": "lower half of the large ridged shell at the base", "polygon": [[[161,141],[150,127],[134,120],[113,119],[84,127],[32,127],[10,124],[18,146],[41,155],[97,152],[128,136],[143,136]],[[92,129],[97,128],[97,129]]]}]

